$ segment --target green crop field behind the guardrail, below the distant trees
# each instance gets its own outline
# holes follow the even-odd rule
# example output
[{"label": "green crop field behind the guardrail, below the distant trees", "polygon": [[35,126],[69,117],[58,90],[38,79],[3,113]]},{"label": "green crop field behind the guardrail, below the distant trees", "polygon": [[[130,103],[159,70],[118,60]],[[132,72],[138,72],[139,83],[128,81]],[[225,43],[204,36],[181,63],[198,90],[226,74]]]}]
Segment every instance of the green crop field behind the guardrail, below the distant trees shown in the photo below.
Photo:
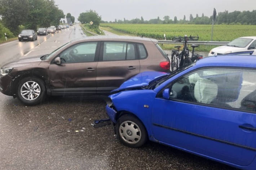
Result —
[{"label": "green crop field behind the guardrail, below the distant trees", "polygon": [[[171,40],[175,36],[199,36],[199,41],[211,40],[211,25],[194,24],[100,24],[128,35]],[[104,29],[104,28],[103,28]],[[256,25],[215,25],[213,41],[231,41],[237,37],[256,36]]]}]

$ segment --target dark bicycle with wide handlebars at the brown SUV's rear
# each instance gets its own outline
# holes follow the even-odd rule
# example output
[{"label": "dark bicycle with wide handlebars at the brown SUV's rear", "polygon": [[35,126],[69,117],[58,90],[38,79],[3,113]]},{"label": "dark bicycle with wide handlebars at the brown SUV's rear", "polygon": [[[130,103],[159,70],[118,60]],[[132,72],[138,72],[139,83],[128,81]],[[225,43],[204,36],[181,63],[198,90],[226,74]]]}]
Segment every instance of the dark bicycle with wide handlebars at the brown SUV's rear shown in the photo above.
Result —
[{"label": "dark bicycle with wide handlebars at the brown SUV's rear", "polygon": [[188,42],[187,41],[197,41],[199,39],[198,36],[189,36],[185,35],[184,37],[173,37],[172,41],[181,42],[183,41],[184,48],[181,53],[180,47],[181,46],[175,46],[177,50],[172,50],[172,56],[171,56],[171,66],[172,71],[178,69],[179,67],[187,64],[191,64],[192,60],[189,58],[189,48],[188,48]]}]

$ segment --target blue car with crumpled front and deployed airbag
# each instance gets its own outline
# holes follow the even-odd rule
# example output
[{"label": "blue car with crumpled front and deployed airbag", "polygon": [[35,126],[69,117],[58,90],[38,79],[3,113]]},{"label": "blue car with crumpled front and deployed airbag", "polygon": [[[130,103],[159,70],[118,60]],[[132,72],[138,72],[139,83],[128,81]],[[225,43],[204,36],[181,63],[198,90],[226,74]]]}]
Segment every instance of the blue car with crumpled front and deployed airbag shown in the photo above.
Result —
[{"label": "blue car with crumpled front and deployed airbag", "polygon": [[106,106],[121,143],[148,139],[256,170],[256,56],[211,56],[172,73],[143,72]]}]

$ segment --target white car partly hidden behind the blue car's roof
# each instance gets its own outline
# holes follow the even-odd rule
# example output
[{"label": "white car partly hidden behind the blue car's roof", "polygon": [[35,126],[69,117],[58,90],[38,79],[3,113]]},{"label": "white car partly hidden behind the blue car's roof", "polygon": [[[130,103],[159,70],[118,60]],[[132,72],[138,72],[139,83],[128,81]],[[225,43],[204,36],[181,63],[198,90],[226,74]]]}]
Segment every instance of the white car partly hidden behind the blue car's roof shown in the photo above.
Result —
[{"label": "white car partly hidden behind the blue car's roof", "polygon": [[256,36],[254,37],[239,37],[227,45],[216,47],[212,49],[208,56],[229,54],[229,53],[243,53],[256,55]]}]

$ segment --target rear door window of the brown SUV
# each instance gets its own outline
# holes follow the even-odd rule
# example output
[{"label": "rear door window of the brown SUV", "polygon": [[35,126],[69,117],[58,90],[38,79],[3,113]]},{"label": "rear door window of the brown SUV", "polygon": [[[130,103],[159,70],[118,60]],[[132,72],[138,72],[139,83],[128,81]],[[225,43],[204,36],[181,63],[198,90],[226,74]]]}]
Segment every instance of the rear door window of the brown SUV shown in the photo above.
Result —
[{"label": "rear door window of the brown SUV", "polygon": [[103,61],[135,60],[135,46],[127,42],[104,42]]}]

